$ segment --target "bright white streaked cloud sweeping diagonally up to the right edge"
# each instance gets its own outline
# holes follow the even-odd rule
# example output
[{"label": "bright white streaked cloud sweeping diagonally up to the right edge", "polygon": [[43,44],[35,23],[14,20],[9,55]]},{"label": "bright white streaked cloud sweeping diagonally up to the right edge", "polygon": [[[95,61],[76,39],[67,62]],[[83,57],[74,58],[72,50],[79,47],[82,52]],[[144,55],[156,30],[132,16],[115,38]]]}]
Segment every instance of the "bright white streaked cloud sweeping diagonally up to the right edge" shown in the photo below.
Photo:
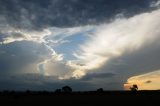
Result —
[{"label": "bright white streaked cloud sweeping diagonally up to the right edge", "polygon": [[77,60],[68,62],[75,68],[73,76],[80,78],[87,70],[99,68],[126,51],[132,53],[159,39],[159,17],[160,9],[100,25],[90,40],[80,45],[80,50],[73,54]]}]

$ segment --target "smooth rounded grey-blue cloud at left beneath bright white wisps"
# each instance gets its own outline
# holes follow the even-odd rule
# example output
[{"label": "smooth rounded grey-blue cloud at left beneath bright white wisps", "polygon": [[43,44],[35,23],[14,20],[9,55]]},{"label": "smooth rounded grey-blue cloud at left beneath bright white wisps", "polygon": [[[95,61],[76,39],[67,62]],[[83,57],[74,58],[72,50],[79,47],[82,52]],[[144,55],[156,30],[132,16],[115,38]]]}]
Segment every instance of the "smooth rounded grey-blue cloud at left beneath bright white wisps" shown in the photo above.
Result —
[{"label": "smooth rounded grey-blue cloud at left beneath bright white wisps", "polygon": [[50,51],[43,44],[30,41],[0,45],[0,76],[39,73],[37,63],[50,57]]}]

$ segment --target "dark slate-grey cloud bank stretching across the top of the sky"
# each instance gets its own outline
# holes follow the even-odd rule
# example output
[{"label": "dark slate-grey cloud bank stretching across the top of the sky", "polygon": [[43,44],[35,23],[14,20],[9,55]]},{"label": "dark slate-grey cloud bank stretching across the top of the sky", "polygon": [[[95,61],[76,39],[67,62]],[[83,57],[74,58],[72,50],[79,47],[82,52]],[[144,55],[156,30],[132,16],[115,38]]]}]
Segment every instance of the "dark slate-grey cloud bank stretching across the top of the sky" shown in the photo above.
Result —
[{"label": "dark slate-grey cloud bank stretching across the top of the sky", "polygon": [[22,29],[98,24],[118,13],[149,11],[152,1],[157,0],[0,0],[0,22]]}]

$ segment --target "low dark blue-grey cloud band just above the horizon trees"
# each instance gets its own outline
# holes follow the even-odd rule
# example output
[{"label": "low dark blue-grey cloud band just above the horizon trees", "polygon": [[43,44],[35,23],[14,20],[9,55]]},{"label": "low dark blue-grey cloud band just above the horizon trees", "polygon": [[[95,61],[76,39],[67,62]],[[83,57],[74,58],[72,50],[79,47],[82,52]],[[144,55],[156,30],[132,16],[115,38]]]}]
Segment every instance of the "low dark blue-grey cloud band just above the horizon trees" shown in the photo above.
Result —
[{"label": "low dark blue-grey cloud band just above the horizon trees", "polygon": [[[63,86],[70,86],[74,91],[89,91],[89,90],[97,90],[99,87],[103,87],[104,89],[112,89],[120,86],[111,84],[110,82],[104,83],[91,83],[93,81],[93,77],[98,79],[104,79],[112,77],[113,74],[92,74],[87,75],[88,79],[67,79],[67,80],[59,80],[56,76],[43,76],[41,74],[22,74],[22,75],[10,75],[6,78],[0,78],[0,90],[49,90],[55,91],[56,89],[60,89]],[[90,78],[89,78],[90,77]],[[107,79],[106,79],[107,80]],[[89,81],[89,82],[87,82]],[[90,82],[91,81],[91,82]],[[108,85],[106,87],[106,84]],[[113,85],[113,86],[112,86]]]}]

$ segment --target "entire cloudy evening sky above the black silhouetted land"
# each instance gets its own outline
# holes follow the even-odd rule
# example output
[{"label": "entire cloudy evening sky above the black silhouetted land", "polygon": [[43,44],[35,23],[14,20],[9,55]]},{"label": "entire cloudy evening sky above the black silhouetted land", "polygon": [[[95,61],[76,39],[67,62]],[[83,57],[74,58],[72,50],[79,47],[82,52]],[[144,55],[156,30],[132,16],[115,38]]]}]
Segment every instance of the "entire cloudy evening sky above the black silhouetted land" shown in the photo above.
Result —
[{"label": "entire cloudy evening sky above the black silhouetted land", "polygon": [[0,0],[0,90],[160,89],[160,0]]}]

